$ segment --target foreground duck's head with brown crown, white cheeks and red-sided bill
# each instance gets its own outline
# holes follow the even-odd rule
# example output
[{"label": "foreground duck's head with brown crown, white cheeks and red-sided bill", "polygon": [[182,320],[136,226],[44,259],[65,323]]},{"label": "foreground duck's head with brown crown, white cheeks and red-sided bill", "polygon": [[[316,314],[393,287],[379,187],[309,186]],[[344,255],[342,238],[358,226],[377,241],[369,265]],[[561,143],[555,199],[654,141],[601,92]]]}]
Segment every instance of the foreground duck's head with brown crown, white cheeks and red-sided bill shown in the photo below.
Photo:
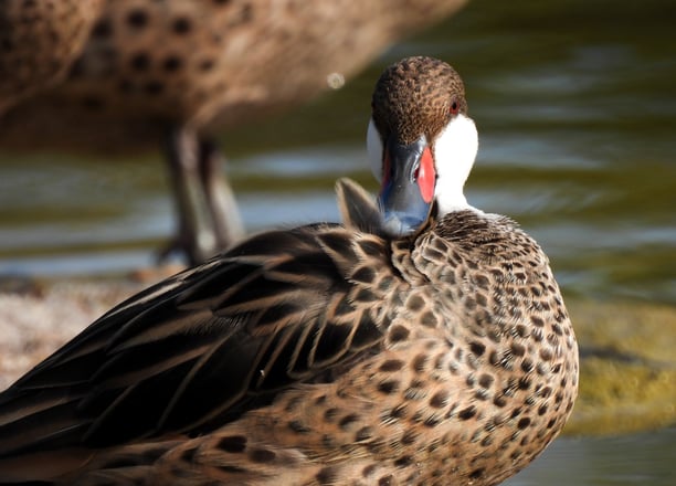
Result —
[{"label": "foreground duck's head with brown crown, white cheeks and red-sided bill", "polygon": [[463,188],[478,149],[460,75],[443,61],[408,57],[378,80],[367,134],[379,205],[392,236],[418,231],[434,211],[467,209]]}]

